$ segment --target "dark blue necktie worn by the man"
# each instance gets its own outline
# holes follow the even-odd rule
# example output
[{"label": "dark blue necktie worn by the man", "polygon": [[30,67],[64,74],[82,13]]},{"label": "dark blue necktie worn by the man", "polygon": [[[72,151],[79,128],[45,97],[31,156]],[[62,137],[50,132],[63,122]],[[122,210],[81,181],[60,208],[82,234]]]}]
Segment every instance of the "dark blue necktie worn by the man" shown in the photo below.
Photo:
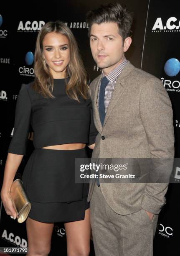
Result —
[{"label": "dark blue necktie worn by the man", "polygon": [[106,76],[104,76],[101,79],[101,87],[100,87],[100,92],[99,92],[99,117],[101,120],[101,125],[103,126],[104,123],[104,118],[105,118],[105,106],[104,106],[104,96],[105,96],[105,88],[106,85],[109,83],[109,80],[107,79]]}]

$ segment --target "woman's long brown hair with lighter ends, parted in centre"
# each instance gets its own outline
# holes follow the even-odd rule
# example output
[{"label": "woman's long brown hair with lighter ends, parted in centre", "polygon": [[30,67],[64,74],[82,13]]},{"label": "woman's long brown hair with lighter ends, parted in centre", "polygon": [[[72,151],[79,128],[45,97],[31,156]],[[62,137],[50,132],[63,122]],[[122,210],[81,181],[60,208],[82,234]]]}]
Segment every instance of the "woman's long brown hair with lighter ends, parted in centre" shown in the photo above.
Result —
[{"label": "woman's long brown hair with lighter ends, parted in centre", "polygon": [[76,39],[71,32],[71,29],[59,20],[56,22],[49,21],[38,33],[34,54],[35,80],[33,89],[36,92],[41,93],[44,97],[54,97],[52,94],[54,86],[53,77],[43,58],[43,39],[46,34],[50,32],[61,33],[66,36],[69,41],[70,62],[67,66],[65,74],[65,77],[69,77],[68,82],[66,82],[67,95],[77,101],[79,101],[79,95],[81,95],[84,99],[89,98],[86,70],[79,54]]}]

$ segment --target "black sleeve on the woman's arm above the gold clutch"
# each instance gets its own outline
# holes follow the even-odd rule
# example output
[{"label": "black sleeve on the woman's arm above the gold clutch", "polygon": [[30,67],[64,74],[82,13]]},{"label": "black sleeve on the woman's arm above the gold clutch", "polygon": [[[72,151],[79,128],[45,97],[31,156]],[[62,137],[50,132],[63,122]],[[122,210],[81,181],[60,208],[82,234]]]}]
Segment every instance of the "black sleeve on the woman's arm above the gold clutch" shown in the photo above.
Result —
[{"label": "black sleeve on the woman's arm above the gold clutch", "polygon": [[15,109],[15,123],[13,138],[10,142],[8,153],[25,155],[30,128],[31,101],[27,85],[22,84]]}]

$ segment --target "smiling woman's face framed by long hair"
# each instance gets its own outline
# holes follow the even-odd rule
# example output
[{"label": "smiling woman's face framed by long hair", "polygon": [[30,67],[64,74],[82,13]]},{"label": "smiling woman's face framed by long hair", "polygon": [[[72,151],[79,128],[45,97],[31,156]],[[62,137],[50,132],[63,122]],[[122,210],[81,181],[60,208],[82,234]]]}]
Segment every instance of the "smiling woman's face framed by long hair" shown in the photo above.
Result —
[{"label": "smiling woman's face framed by long hair", "polygon": [[56,32],[47,33],[43,39],[43,54],[53,78],[65,78],[70,61],[68,38]]}]

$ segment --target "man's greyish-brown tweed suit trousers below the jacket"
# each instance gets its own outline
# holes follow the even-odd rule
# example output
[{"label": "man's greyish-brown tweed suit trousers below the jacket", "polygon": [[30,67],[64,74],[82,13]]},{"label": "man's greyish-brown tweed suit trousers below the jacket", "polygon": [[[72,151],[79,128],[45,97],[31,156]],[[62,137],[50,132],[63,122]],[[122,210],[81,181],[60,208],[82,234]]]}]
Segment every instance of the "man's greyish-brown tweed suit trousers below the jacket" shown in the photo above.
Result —
[{"label": "man's greyish-brown tweed suit trousers below the jacket", "polygon": [[90,218],[96,256],[152,256],[158,215],[152,221],[144,209],[119,215],[95,184]]}]

